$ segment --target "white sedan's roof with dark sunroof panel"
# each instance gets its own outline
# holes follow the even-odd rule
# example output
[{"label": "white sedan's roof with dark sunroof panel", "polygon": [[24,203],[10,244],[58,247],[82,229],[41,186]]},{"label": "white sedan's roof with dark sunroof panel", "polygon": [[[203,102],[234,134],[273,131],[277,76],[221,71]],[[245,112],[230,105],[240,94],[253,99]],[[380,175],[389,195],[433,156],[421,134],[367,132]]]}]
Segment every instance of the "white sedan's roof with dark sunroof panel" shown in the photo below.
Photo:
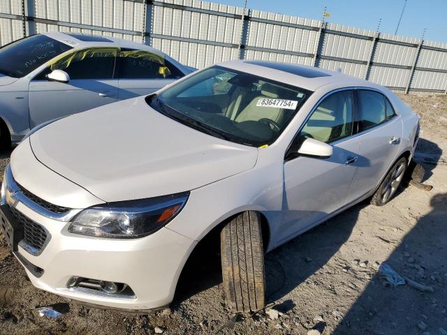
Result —
[{"label": "white sedan's roof with dark sunroof panel", "polygon": [[308,89],[309,91],[316,91],[325,86],[330,87],[330,89],[336,89],[337,87],[370,87],[380,91],[385,89],[367,80],[312,66],[251,60],[226,61],[218,65],[246,73],[253,73],[270,80]]}]

